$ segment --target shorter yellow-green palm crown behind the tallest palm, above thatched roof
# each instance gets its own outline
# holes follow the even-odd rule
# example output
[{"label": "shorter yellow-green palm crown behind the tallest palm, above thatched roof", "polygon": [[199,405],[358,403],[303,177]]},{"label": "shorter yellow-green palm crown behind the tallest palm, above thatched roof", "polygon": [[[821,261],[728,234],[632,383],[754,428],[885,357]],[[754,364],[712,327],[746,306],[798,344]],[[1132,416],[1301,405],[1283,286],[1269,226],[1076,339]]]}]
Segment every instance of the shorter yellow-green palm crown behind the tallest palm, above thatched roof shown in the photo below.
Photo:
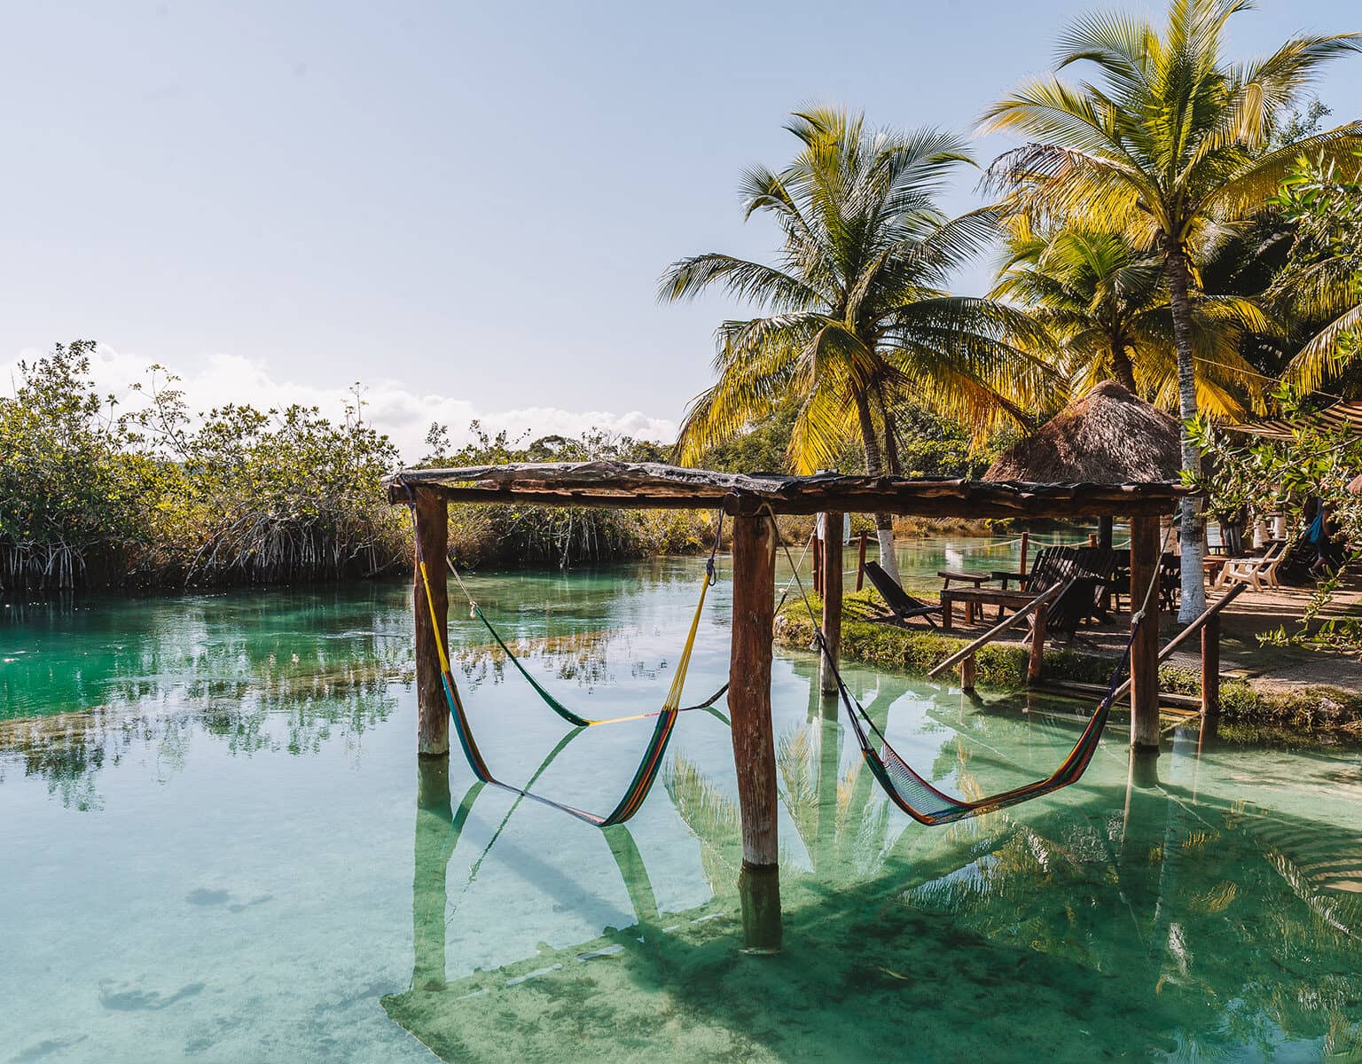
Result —
[{"label": "shorter yellow-green palm crown behind the tallest palm, above thatched roof", "polygon": [[[1008,259],[990,296],[1027,308],[1058,347],[1073,394],[1102,380],[1160,406],[1177,405],[1177,356],[1159,256],[1121,233],[1058,229],[1036,233],[1009,219]],[[1197,405],[1239,417],[1261,392],[1260,375],[1239,354],[1246,330],[1268,322],[1246,298],[1203,296],[1193,312]]]}]

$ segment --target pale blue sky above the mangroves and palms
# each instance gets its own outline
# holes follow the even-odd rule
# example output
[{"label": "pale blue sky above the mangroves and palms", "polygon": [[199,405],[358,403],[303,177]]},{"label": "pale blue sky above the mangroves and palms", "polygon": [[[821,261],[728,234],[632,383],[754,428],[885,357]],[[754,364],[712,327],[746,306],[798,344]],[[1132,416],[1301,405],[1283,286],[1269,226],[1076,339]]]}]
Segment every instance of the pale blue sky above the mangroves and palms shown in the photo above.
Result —
[{"label": "pale blue sky above the mangroves and palms", "polygon": [[[434,418],[666,435],[737,308],[656,277],[770,251],[734,188],[785,114],[968,131],[1091,7],[11,3],[0,364],[93,337],[110,387],[157,361],[203,405],[362,380],[409,452]],[[1264,0],[1233,50],[1359,14]],[[1320,95],[1358,114],[1362,57]]]}]

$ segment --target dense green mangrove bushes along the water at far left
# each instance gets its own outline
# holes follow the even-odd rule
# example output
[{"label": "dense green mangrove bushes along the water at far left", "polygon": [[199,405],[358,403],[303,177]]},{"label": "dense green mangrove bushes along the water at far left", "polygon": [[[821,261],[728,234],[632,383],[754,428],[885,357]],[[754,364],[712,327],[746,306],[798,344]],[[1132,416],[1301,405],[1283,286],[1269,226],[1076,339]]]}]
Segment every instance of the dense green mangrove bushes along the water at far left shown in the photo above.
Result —
[{"label": "dense green mangrove bushes along the water at far left", "polygon": [[90,386],[94,343],[20,365],[0,398],[0,579],[7,587],[335,579],[406,556],[380,478],[396,463],[355,396],[191,417],[159,366],[144,409]]}]

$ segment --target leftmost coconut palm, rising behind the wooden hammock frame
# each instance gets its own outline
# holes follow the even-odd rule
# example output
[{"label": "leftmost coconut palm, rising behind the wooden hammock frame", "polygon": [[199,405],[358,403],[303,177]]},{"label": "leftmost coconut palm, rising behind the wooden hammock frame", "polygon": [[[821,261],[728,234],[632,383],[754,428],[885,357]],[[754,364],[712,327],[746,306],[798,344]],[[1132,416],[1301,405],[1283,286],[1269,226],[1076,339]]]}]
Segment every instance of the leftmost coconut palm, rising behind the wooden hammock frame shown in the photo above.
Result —
[{"label": "leftmost coconut palm, rising behind the wooden hammock frame", "polygon": [[[718,330],[718,383],[686,411],[682,462],[731,439],[798,396],[789,460],[801,473],[831,467],[853,433],[866,471],[898,474],[893,405],[915,396],[959,416],[977,435],[998,417],[1024,417],[1053,376],[1034,354],[1043,335],[1026,315],[992,300],[951,296],[949,272],[994,230],[983,210],[948,219],[934,204],[967,163],[964,142],[936,129],[870,131],[859,114],[794,114],[798,157],[775,173],[744,174],[746,217],[780,229],[776,266],[710,252],[673,263],[661,298],[719,285],[767,315]],[[883,443],[881,443],[883,441]],[[876,515],[881,561],[895,578],[889,515]]]}]

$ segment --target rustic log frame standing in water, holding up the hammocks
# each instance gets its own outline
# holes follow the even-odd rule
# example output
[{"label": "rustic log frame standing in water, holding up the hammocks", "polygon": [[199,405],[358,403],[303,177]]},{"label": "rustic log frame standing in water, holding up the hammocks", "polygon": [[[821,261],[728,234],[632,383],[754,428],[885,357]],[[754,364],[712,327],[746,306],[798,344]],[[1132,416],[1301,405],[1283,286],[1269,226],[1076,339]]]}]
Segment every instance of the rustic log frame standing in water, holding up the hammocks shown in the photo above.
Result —
[{"label": "rustic log frame standing in water, holding up the hammocks", "polygon": [[[733,648],[729,710],[742,815],[741,896],[748,948],[780,944],[776,767],[771,725],[771,646],[779,514],[887,512],[955,518],[1086,518],[1128,515],[1135,586],[1156,571],[1159,518],[1186,489],[1174,484],[1015,484],[891,477],[783,477],[711,473],[661,463],[584,462],[429,469],[396,474],[388,497],[414,507],[426,559],[447,552],[448,503],[515,503],[617,508],[722,508],[733,518]],[[842,519],[828,520],[840,539]],[[831,542],[831,541],[829,541]],[[840,544],[839,544],[840,548]],[[840,549],[838,548],[838,554]],[[832,560],[829,560],[832,561]],[[836,574],[834,578],[832,574]],[[838,557],[825,567],[829,627],[840,619]],[[444,631],[444,580],[433,580],[436,623]],[[449,718],[440,691],[440,663],[428,606],[415,580],[418,749],[447,756]],[[422,635],[426,633],[426,635]],[[1136,747],[1158,749],[1158,617],[1136,640],[1130,673]]]}]

